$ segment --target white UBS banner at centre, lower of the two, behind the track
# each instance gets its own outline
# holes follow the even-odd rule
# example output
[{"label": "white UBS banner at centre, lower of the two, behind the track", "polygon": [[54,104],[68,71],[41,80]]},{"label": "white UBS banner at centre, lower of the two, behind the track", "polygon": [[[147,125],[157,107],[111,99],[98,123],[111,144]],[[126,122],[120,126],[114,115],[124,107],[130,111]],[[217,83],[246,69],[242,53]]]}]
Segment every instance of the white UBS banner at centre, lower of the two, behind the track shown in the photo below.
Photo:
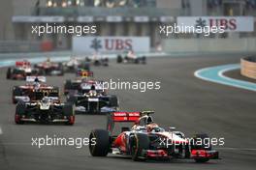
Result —
[{"label": "white UBS banner at centre, lower of the two, behind the track", "polygon": [[74,52],[149,52],[149,37],[73,37],[72,49]]}]

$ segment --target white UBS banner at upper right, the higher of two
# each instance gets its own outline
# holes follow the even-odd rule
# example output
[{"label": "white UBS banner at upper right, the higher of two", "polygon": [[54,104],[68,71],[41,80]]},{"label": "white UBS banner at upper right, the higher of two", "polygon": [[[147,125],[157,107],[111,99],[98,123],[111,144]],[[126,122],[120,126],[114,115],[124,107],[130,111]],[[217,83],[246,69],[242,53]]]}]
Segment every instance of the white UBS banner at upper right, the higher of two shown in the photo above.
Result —
[{"label": "white UBS banner at upper right, the higher of two", "polygon": [[177,25],[181,26],[223,26],[225,32],[252,32],[254,19],[252,16],[177,16]]}]

